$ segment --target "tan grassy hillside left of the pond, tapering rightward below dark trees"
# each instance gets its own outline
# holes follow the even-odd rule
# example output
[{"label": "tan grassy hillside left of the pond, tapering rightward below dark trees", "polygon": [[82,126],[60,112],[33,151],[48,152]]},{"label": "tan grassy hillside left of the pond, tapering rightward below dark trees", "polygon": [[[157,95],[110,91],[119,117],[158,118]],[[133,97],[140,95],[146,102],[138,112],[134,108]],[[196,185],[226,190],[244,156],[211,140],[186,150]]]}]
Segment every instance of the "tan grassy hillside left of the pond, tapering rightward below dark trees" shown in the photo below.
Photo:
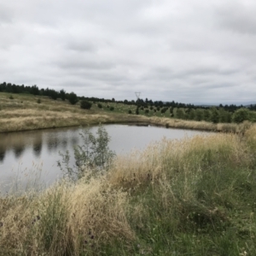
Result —
[{"label": "tan grassy hillside left of the pond, tapering rightward below dark trees", "polygon": [[[61,100],[32,95],[0,93],[0,132],[24,131],[75,125],[143,121],[142,117],[107,113],[96,108],[84,110]],[[38,103],[38,99],[41,103]]]}]

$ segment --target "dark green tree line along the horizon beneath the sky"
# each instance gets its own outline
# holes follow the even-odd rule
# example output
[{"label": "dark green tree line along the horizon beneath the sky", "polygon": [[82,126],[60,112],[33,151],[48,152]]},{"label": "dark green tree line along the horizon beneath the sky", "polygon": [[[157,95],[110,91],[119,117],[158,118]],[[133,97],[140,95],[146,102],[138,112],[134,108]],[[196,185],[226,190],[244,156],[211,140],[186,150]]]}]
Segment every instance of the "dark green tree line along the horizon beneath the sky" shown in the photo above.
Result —
[{"label": "dark green tree line along the horizon beneath the sky", "polygon": [[[162,102],[148,100],[146,98],[137,99],[137,101],[124,100],[124,101],[115,101],[112,99],[104,99],[97,97],[85,97],[85,96],[77,96],[74,92],[67,93],[65,90],[54,90],[49,88],[39,89],[36,84],[34,85],[19,85],[19,84],[11,84],[3,82],[0,84],[0,92],[8,92],[14,94],[32,94],[35,96],[49,96],[53,100],[60,98],[62,101],[68,100],[71,104],[76,104],[80,101],[80,107],[85,109],[90,109],[91,102],[116,102],[123,103],[126,105],[136,105],[137,110],[136,113],[139,113],[139,110],[144,110],[147,114],[150,110],[160,111],[161,113],[166,113],[167,110],[170,111],[171,117],[176,117],[177,119],[190,119],[190,120],[206,120],[211,121],[213,123],[225,122],[230,123],[232,121],[240,122],[244,119],[249,119],[252,121],[256,121],[255,114],[249,110],[256,110],[256,105],[250,105],[248,108],[244,108],[242,105],[236,106],[234,104],[231,105],[222,105],[219,104],[218,107],[212,106],[195,106],[194,104],[185,104],[180,102]],[[100,105],[100,103],[98,103]],[[100,107],[99,107],[100,108]],[[176,112],[174,113],[174,109]],[[239,111],[238,111],[239,110]]]}]

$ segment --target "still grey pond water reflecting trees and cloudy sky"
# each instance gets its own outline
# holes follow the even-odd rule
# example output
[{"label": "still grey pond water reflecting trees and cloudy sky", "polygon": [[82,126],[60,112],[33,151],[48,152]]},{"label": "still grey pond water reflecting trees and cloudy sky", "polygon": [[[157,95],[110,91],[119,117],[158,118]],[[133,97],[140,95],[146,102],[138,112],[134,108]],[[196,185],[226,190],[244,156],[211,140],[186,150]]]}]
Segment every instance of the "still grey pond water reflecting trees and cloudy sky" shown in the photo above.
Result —
[{"label": "still grey pond water reflecting trees and cloudy sky", "polygon": [[[134,148],[143,149],[161,138],[178,139],[201,134],[201,131],[166,129],[154,126],[104,125],[111,137],[109,148],[125,154]],[[97,126],[91,127],[95,133]],[[61,177],[57,161],[59,152],[73,154],[73,146],[82,143],[82,128],[22,131],[0,134],[0,192],[11,186],[40,179],[49,185]],[[22,185],[23,184],[23,185]]]}]

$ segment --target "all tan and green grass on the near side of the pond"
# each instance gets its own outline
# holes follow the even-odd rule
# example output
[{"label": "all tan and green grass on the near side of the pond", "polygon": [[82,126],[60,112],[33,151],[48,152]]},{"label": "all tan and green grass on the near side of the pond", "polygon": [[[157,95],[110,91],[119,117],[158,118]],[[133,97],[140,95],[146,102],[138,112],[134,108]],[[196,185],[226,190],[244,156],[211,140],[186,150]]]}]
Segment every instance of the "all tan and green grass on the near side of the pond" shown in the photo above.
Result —
[{"label": "all tan and green grass on the near side of the pond", "polygon": [[[256,255],[256,127],[163,140],[0,199],[0,255]],[[89,175],[89,176],[88,176]]]}]

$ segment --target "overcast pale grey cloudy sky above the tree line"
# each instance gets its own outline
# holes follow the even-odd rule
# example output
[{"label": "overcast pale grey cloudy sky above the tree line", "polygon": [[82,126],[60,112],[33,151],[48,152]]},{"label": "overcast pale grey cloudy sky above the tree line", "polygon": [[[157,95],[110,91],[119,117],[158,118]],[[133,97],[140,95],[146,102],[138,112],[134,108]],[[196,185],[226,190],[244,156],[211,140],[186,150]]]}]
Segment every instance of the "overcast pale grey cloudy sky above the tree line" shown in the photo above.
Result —
[{"label": "overcast pale grey cloudy sky above the tree line", "polygon": [[256,102],[255,0],[0,0],[0,83]]}]

